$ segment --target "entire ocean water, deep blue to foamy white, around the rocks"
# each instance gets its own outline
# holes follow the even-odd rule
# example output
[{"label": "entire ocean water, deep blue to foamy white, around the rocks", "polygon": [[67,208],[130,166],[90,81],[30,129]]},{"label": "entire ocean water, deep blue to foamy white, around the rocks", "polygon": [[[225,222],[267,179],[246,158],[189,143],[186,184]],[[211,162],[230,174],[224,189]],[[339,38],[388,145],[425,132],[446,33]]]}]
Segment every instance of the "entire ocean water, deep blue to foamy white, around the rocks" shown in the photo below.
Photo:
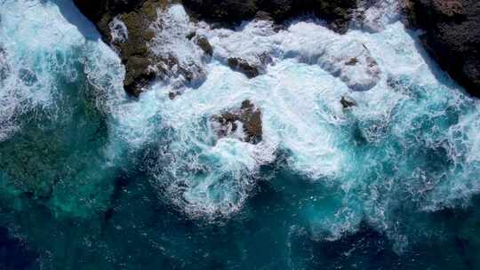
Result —
[{"label": "entire ocean water, deep blue to foamy white, around the rocks", "polygon": [[[311,18],[212,29],[172,5],[149,48],[179,67],[132,99],[71,1],[0,0],[0,269],[479,268],[480,101],[395,7],[340,36]],[[210,122],[245,99],[257,145]]]}]

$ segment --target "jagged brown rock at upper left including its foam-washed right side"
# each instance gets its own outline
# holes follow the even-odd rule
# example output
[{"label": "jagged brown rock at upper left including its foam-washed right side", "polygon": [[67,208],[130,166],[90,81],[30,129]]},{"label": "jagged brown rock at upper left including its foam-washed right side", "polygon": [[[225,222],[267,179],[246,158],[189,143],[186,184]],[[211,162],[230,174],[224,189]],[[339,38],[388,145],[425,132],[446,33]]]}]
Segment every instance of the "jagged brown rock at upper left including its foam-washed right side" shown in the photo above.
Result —
[{"label": "jagged brown rock at upper left including its foam-washed right side", "polygon": [[204,36],[195,36],[195,33],[189,38],[179,36],[181,31],[187,30],[184,28],[188,28],[188,21],[177,21],[182,19],[167,12],[168,7],[178,1],[102,0],[92,3],[75,0],[75,3],[99,29],[104,42],[118,52],[126,70],[124,89],[132,96],[138,97],[155,78],[176,78],[179,87],[182,83],[204,79],[202,58],[185,59],[183,55],[176,55],[175,46],[168,43],[169,39],[174,39],[195,44],[205,55],[212,56],[212,46]]}]

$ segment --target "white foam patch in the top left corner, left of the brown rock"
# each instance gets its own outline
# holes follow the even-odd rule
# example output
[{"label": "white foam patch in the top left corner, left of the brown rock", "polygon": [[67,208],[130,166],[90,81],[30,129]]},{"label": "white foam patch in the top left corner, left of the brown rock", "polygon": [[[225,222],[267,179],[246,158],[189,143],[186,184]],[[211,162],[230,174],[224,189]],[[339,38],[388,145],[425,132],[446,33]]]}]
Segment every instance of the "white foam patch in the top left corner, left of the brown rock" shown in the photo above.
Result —
[{"label": "white foam patch in the top left corner, left of the brown rock", "polygon": [[[36,1],[4,1],[0,10],[0,40],[8,71],[0,89],[0,140],[18,131],[18,115],[35,108],[54,107],[57,92],[52,73],[75,79],[69,51],[82,42],[76,28],[63,19],[54,4],[38,12]],[[27,20],[28,18],[28,20]],[[56,22],[61,23],[56,23]],[[60,42],[61,41],[61,42]]]}]

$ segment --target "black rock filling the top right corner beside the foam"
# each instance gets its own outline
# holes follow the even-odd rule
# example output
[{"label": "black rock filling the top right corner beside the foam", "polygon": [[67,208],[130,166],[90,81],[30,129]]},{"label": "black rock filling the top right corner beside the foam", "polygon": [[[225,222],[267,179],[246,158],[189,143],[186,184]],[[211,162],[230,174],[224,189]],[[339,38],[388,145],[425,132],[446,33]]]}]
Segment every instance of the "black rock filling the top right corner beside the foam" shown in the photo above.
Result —
[{"label": "black rock filling the top right corner beside the foam", "polygon": [[452,78],[480,97],[480,1],[404,0],[407,24]]}]

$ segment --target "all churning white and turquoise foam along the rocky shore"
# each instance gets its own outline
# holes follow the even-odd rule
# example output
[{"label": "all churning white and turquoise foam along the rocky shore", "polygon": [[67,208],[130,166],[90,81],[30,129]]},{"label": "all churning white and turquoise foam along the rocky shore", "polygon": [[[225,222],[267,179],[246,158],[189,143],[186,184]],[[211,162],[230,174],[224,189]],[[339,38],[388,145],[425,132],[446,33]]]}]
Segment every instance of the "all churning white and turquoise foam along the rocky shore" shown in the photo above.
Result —
[{"label": "all churning white and turquoise foam along the rocky shore", "polygon": [[[321,239],[338,239],[365,220],[401,250],[409,239],[396,210],[404,204],[413,202],[415,212],[438,210],[466,204],[480,192],[479,102],[428,59],[416,34],[404,29],[396,13],[385,12],[389,4],[367,11],[373,26],[343,36],[316,20],[294,21],[279,32],[266,21],[211,29],[193,25],[181,6],[173,5],[152,26],[151,49],[177,58],[178,68],[198,67],[202,83],[183,84],[172,70],[172,80],[132,100],[122,89],[124,68],[107,45],[85,41],[55,4],[34,12],[15,3],[0,10],[3,61],[9,66],[2,82],[7,86],[0,89],[0,122],[18,129],[15,115],[52,104],[52,93],[59,92],[52,74],[70,74],[71,48],[86,43],[82,52],[88,57],[81,61],[99,90],[99,107],[109,115],[110,162],[132,152],[151,154],[155,162],[148,161],[148,173],[159,196],[193,217],[228,217],[241,210],[260,166],[274,161],[279,150],[287,153],[292,171],[335,188],[330,204],[300,209]],[[212,44],[211,61],[186,37],[193,30]],[[39,34],[32,38],[32,33]],[[227,66],[229,57],[260,65],[265,53],[273,62],[255,78]],[[184,91],[171,100],[168,93],[180,85],[176,79]],[[18,82],[22,87],[14,86]],[[342,108],[342,96],[355,99],[356,107]],[[244,99],[261,110],[258,145],[219,139],[209,123]]]}]

